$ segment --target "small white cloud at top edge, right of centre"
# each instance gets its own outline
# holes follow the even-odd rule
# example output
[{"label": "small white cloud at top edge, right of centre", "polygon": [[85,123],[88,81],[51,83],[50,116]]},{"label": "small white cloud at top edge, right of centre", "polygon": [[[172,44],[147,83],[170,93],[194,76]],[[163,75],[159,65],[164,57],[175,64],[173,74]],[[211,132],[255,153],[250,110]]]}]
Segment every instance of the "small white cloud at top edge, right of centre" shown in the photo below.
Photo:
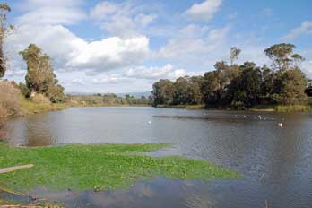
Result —
[{"label": "small white cloud at top edge, right of centre", "polygon": [[221,7],[221,0],[205,0],[201,4],[193,4],[186,15],[193,21],[211,21]]}]

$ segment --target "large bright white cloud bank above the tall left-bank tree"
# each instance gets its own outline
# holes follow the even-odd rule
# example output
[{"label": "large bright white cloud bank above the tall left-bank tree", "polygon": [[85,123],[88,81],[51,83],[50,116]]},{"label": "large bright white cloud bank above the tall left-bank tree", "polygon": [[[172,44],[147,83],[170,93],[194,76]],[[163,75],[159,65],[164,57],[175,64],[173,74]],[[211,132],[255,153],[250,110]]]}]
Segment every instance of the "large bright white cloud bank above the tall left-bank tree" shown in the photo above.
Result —
[{"label": "large bright white cloud bank above the tall left-bank tree", "polygon": [[[19,6],[23,14],[15,19],[16,30],[6,42],[5,50],[10,59],[10,68],[15,71],[26,68],[18,53],[30,43],[38,45],[44,53],[52,57],[56,71],[80,70],[89,74],[99,74],[141,63],[149,54],[149,39],[143,35],[86,40],[65,27],[86,18],[81,9],[83,2],[83,0],[22,1]],[[108,8],[106,13],[115,11],[108,4],[100,4],[98,9],[97,7],[94,9],[94,17],[97,13],[103,12],[103,5]],[[124,6],[126,8],[126,4]],[[137,18],[138,22],[143,21],[145,24],[152,22],[151,18],[143,14],[137,15]]]}]

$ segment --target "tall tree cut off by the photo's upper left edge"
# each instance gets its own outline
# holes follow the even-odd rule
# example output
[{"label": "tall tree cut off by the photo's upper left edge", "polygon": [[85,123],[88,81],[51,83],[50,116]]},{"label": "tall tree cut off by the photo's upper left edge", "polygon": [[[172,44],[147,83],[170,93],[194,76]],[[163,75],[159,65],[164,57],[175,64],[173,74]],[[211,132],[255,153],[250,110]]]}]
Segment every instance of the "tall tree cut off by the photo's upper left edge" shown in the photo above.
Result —
[{"label": "tall tree cut off by the photo's upper left edge", "polygon": [[6,25],[6,15],[11,12],[10,6],[7,4],[0,4],[0,78],[4,77],[6,71],[6,58],[4,56],[4,40],[13,26]]}]

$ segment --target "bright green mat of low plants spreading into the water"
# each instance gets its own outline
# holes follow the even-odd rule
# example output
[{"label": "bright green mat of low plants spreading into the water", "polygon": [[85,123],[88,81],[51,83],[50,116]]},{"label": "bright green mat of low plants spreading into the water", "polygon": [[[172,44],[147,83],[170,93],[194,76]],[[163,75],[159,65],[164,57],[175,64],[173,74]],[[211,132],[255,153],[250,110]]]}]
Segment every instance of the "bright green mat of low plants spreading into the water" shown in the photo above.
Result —
[{"label": "bright green mat of low plants spreading into the water", "polygon": [[205,160],[181,157],[153,158],[152,152],[168,144],[65,145],[14,148],[0,143],[0,168],[34,164],[34,168],[0,174],[1,186],[27,191],[37,186],[53,190],[114,189],[140,178],[174,179],[241,178]]}]

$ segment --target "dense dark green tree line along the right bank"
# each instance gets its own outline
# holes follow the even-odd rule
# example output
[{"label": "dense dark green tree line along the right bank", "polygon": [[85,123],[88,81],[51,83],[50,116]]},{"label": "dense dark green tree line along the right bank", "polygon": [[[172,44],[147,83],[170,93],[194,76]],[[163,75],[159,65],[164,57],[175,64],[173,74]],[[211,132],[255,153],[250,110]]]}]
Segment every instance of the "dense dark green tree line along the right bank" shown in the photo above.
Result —
[{"label": "dense dark green tree line along the right bank", "polygon": [[230,48],[230,65],[217,62],[204,76],[160,80],[152,85],[152,104],[251,108],[256,105],[297,105],[307,102],[306,75],[299,65],[304,57],[294,53],[295,45],[275,44],[264,50],[271,66],[253,62],[235,64],[241,50]]}]

